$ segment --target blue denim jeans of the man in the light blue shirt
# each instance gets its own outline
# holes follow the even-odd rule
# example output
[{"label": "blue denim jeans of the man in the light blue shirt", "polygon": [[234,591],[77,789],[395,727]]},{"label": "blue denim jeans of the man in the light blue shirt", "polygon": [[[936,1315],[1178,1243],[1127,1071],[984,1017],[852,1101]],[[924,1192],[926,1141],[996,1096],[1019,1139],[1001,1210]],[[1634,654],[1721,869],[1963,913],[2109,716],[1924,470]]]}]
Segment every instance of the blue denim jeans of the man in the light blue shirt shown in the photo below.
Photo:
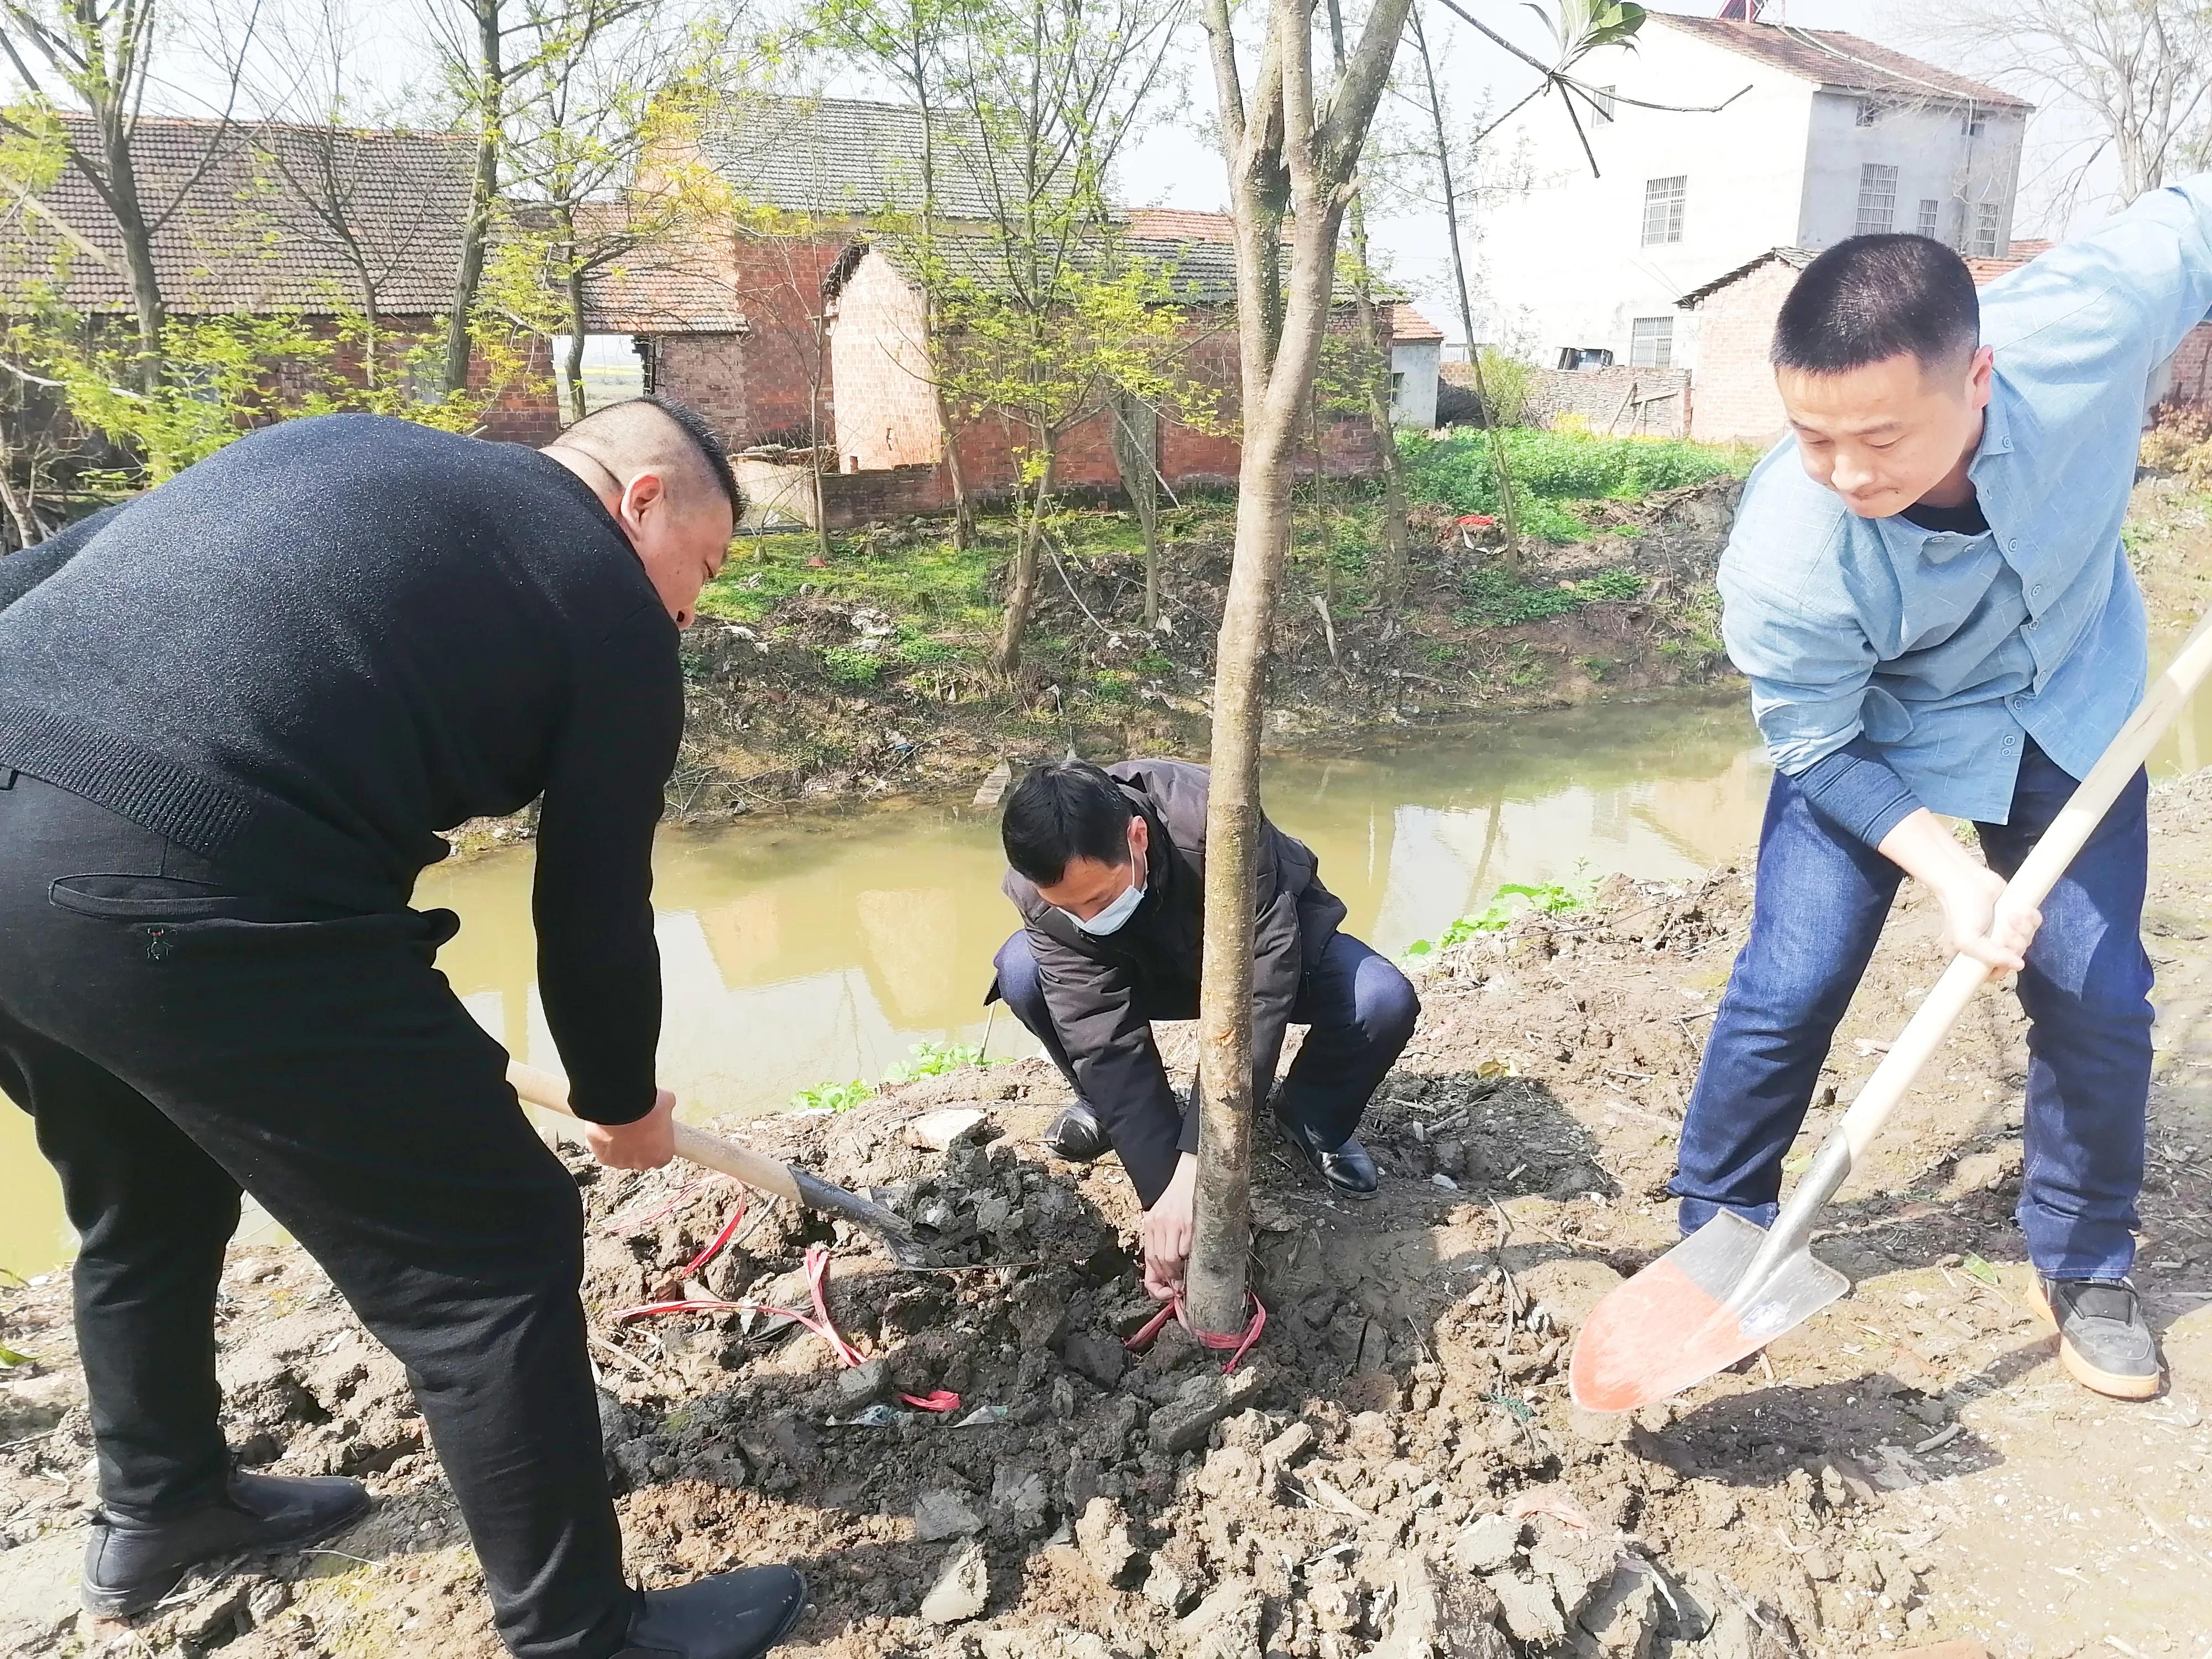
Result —
[{"label": "blue denim jeans of the man in the light blue shirt", "polygon": [[[2075,779],[2028,743],[2011,823],[1975,825],[1991,867],[2011,876],[2073,790]],[[2044,900],[2020,975],[2031,1020],[2020,1225],[2028,1259],[2053,1279],[2117,1279],[2135,1261],[2150,1097],[2150,958],[2139,933],[2146,796],[2137,772]],[[1683,1232],[1717,1210],[1774,1221],[1783,1155],[1900,878],[1774,776],[1752,936],[1728,978],[1681,1130],[1670,1190]]]}]

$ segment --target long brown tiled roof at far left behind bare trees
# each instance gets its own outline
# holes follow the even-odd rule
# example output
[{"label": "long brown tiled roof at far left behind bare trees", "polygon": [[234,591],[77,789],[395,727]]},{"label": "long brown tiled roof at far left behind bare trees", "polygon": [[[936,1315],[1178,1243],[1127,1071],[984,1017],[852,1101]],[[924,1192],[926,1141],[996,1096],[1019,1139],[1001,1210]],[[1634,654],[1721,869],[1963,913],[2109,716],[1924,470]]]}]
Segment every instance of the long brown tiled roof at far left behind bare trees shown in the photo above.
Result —
[{"label": "long brown tiled roof at far left behind bare trees", "polygon": [[[91,146],[91,117],[62,122]],[[469,137],[142,117],[133,159],[148,215],[166,215],[155,270],[179,316],[358,307],[361,274],[325,215],[352,230],[380,312],[427,316],[453,303],[476,164]],[[51,279],[51,257],[66,246],[69,303],[128,312],[122,237],[93,186],[64,168],[40,201],[106,263],[24,217],[0,246],[0,296]]]}]

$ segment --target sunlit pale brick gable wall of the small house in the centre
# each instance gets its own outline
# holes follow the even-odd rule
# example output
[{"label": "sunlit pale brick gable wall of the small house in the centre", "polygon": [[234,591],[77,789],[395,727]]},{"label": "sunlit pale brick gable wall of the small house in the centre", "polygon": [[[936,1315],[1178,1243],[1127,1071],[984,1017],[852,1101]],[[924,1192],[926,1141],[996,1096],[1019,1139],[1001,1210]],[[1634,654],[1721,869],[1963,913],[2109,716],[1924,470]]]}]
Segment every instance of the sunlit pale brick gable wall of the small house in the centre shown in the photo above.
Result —
[{"label": "sunlit pale brick gable wall of the small house in the centre", "polygon": [[927,321],[920,290],[880,252],[865,254],[845,279],[832,334],[838,471],[927,467],[942,458]]}]

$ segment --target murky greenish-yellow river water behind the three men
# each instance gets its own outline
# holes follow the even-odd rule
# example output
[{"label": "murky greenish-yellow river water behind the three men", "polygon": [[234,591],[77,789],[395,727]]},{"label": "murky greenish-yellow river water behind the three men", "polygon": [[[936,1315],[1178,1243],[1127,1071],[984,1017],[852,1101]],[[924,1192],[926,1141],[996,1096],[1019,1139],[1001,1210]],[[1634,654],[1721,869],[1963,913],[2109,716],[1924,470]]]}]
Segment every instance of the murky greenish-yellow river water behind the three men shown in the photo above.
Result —
[{"label": "murky greenish-yellow river water behind the three men", "polygon": [[[2199,759],[2199,732],[2205,757]],[[2212,761],[2205,699],[2159,770]],[[1321,854],[1349,927],[1387,953],[1480,909],[1500,883],[1690,876],[1759,834],[1765,763],[1741,688],[1593,703],[1267,765],[1270,816]],[[670,827],[655,854],[666,1018],[659,1073],[688,1117],[765,1113],[794,1091],[878,1082],[918,1042],[1033,1053],[982,1006],[1013,929],[993,812],[896,801]],[[425,874],[462,918],[440,953],[469,1011],[557,1066],[535,993],[531,849]],[[31,1124],[0,1108],[0,1267],[69,1254]]]}]

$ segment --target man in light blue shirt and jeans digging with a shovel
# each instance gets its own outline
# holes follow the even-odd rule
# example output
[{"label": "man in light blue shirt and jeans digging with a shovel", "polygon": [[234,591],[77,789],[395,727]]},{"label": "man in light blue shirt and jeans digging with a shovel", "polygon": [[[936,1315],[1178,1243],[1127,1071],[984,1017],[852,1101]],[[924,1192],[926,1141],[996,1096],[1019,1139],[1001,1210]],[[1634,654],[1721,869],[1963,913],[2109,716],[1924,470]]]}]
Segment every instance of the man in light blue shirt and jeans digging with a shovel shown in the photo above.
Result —
[{"label": "man in light blue shirt and jeans digging with a shovel", "polygon": [[[1911,874],[1944,949],[2017,973],[2020,1225],[2066,1369],[2148,1398],[2128,1270],[2150,1088],[2141,774],[2044,900],[2004,880],[2141,697],[2119,529],[2146,385],[2212,310],[2212,177],[2157,190],[1982,296],[1949,248],[1854,237],[1774,330],[1790,436],[1721,560],[1774,759],[1752,936],[1683,1124],[1681,1225],[1770,1223],[1836,1022]],[[1986,865],[1936,816],[1973,821]]]}]

